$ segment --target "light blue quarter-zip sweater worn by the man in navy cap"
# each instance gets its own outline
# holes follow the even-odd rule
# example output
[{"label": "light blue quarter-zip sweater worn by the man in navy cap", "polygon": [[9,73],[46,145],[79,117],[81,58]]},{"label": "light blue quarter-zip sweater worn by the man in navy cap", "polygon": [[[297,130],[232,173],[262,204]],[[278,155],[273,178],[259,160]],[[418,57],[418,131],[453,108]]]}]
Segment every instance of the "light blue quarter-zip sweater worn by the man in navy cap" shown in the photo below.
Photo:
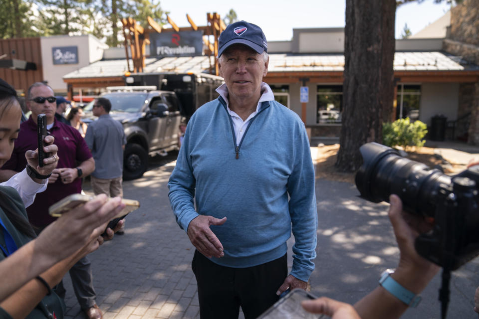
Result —
[{"label": "light blue quarter-zip sweater worn by the man in navy cap", "polygon": [[211,226],[225,253],[214,263],[244,268],[277,259],[292,230],[291,275],[309,279],[316,257],[314,168],[304,124],[293,111],[262,102],[237,147],[223,98],[203,105],[188,123],[168,187],[183,229],[199,214],[228,217]]}]

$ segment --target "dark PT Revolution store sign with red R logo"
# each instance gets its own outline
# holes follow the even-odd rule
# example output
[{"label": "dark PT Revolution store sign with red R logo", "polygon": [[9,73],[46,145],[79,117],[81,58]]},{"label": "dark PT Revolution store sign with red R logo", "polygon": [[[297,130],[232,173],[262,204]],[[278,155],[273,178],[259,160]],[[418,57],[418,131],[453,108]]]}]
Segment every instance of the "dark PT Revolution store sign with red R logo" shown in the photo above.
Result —
[{"label": "dark PT Revolution store sign with red R logo", "polygon": [[203,55],[203,31],[150,33],[150,56]]}]

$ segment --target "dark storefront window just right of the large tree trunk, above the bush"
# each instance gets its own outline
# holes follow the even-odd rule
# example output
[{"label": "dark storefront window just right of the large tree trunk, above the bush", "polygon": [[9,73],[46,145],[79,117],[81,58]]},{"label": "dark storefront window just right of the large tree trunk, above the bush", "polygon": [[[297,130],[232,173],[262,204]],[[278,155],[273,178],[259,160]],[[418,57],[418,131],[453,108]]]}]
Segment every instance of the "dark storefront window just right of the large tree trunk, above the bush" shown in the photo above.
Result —
[{"label": "dark storefront window just right of the large tree trunk, above the bush", "polygon": [[421,106],[420,85],[398,85],[396,119],[409,118],[411,122],[419,120]]}]

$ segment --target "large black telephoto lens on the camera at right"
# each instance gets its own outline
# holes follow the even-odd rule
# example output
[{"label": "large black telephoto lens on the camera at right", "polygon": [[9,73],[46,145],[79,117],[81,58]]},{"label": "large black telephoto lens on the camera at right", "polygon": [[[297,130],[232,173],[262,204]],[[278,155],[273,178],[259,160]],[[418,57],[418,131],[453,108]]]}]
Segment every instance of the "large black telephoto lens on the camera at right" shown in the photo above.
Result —
[{"label": "large black telephoto lens on the camera at right", "polygon": [[439,169],[403,158],[399,152],[378,143],[367,143],[360,148],[363,165],[356,173],[356,187],[361,197],[372,201],[389,201],[389,195],[398,195],[404,210],[433,217],[440,186],[448,187],[451,176]]}]

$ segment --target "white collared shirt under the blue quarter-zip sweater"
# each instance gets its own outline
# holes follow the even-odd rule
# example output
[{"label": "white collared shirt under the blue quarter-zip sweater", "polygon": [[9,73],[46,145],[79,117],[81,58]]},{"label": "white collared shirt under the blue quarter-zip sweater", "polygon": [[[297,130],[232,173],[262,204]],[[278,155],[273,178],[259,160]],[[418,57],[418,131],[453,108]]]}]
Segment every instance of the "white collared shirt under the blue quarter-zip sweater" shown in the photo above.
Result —
[{"label": "white collared shirt under the blue quarter-zip sweater", "polygon": [[228,100],[228,87],[226,86],[226,83],[220,85],[217,89],[216,92],[220,94],[220,96],[225,100],[226,102],[226,107],[228,109],[228,113],[230,113],[231,119],[233,120],[233,129],[235,130],[235,136],[236,136],[236,145],[240,145],[241,139],[243,138],[244,131],[248,127],[249,121],[258,113],[259,107],[261,106],[261,102],[265,101],[273,101],[274,100],[274,94],[269,85],[267,85],[264,82],[261,82],[261,96],[259,97],[258,104],[256,105],[256,111],[251,113],[248,118],[243,121],[241,117],[233,112],[230,109],[230,101]]}]

